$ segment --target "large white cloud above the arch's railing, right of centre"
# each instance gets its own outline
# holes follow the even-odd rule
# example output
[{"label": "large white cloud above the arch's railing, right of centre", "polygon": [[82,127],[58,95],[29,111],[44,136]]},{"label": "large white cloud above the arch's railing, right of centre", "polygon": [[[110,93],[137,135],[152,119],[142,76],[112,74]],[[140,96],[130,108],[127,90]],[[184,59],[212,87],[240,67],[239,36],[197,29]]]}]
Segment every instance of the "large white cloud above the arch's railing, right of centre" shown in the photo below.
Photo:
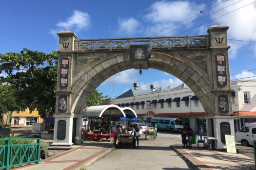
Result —
[{"label": "large white cloud above the arch's railing, right of centre", "polygon": [[[172,34],[175,34],[177,33],[177,31],[174,31],[175,29],[184,24],[188,24],[192,19],[195,19],[195,17],[187,19],[191,17],[191,14],[198,14],[198,12],[204,8],[204,4],[196,4],[191,1],[162,0],[155,2],[149,7],[149,13],[144,16],[148,22],[153,23],[153,26],[147,27],[147,31],[151,34],[157,33],[171,26],[171,28],[159,33],[159,35],[166,34],[170,31]],[[183,22],[173,26],[180,21]]]}]

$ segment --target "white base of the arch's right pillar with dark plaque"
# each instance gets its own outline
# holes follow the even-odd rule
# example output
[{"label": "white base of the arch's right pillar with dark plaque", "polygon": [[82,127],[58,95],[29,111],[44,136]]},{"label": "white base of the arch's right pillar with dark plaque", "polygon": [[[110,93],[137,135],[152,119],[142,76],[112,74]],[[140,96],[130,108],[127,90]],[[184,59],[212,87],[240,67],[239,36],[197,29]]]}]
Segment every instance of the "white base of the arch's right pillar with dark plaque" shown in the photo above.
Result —
[{"label": "white base of the arch's right pillar with dark plaque", "polygon": [[216,137],[215,149],[223,151],[225,148],[225,134],[235,135],[234,117],[232,116],[214,116],[206,118],[207,136]]}]

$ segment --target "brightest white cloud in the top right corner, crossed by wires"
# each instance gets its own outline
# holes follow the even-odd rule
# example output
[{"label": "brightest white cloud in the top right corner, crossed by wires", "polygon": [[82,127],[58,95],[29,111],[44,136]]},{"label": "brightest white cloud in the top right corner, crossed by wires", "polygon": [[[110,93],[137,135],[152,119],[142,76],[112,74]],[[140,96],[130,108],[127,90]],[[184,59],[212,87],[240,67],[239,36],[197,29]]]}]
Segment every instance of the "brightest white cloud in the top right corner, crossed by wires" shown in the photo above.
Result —
[{"label": "brightest white cloud in the top right corner, crossed by wires", "polygon": [[[224,0],[216,0],[212,5],[223,2]],[[235,9],[238,9],[242,6],[245,6],[249,3],[252,3],[254,0],[243,0],[239,3],[236,3],[228,8],[221,10],[213,15],[211,18],[216,18],[222,16],[226,13],[229,13]],[[237,2],[237,0],[228,0],[225,3],[218,5],[216,8],[212,9],[217,11],[228,5]],[[234,11],[223,17],[219,17],[215,20],[217,24],[229,26],[228,36],[233,39],[241,40],[256,40],[256,4],[251,4],[237,11]]]}]

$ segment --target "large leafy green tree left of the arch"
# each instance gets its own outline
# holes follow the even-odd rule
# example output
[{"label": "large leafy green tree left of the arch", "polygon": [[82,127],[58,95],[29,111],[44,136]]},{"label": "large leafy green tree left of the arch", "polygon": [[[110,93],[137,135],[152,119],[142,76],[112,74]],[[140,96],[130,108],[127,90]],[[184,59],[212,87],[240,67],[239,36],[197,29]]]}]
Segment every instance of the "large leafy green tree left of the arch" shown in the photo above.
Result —
[{"label": "large leafy green tree left of the arch", "polygon": [[55,112],[55,93],[57,89],[58,54],[49,54],[23,49],[20,53],[8,52],[0,54],[0,73],[7,74],[0,77],[0,84],[10,85],[15,92],[16,107],[37,108],[39,115],[45,117],[46,111]]}]

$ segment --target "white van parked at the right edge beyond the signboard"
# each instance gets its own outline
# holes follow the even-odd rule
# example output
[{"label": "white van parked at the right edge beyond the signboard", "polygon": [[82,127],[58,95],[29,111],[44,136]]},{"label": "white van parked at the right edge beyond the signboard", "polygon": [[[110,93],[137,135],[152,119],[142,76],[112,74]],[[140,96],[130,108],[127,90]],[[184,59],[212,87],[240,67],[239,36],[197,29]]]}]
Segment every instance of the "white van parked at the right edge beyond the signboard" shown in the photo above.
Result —
[{"label": "white van parked at the right edge beyond the signboard", "polygon": [[243,146],[254,145],[256,140],[256,123],[250,123],[236,132],[235,140]]}]

